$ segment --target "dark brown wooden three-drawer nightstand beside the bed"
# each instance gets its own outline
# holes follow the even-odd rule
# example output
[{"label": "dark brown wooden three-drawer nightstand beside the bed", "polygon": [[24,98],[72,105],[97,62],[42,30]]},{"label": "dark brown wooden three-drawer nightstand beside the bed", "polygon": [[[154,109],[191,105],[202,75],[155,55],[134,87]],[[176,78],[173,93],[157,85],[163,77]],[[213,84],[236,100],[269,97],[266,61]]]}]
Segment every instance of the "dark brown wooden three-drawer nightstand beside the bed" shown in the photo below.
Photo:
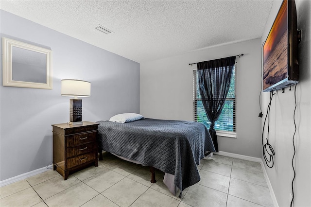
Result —
[{"label": "dark brown wooden three-drawer nightstand beside the bed", "polygon": [[89,121],[78,125],[52,124],[53,170],[60,173],[64,180],[69,173],[82,170],[92,163],[98,166],[98,125]]}]

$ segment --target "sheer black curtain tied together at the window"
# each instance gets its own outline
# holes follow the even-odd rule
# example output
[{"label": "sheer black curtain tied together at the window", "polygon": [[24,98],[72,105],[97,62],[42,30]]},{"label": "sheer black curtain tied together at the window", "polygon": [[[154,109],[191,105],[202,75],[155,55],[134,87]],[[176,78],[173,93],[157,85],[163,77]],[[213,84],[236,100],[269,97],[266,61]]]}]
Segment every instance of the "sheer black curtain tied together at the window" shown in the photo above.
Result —
[{"label": "sheer black curtain tied together at the window", "polygon": [[222,113],[230,88],[234,64],[235,56],[197,63],[199,91],[207,119],[211,122],[209,133],[216,152],[218,152],[218,142],[214,129],[215,121]]}]

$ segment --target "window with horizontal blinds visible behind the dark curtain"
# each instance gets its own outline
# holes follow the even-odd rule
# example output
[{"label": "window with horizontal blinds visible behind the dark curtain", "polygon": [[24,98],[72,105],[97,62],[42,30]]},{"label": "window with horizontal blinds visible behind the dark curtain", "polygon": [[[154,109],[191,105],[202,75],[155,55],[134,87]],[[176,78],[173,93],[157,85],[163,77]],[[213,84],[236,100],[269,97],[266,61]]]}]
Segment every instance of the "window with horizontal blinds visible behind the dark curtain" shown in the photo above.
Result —
[{"label": "window with horizontal blinds visible behind the dark curtain", "polygon": [[[236,92],[235,92],[235,67],[232,72],[230,89],[227,94],[225,105],[221,115],[215,122],[217,135],[226,137],[236,137]],[[210,122],[205,113],[199,86],[197,85],[197,70],[193,70],[193,121],[204,123],[209,129]]]}]

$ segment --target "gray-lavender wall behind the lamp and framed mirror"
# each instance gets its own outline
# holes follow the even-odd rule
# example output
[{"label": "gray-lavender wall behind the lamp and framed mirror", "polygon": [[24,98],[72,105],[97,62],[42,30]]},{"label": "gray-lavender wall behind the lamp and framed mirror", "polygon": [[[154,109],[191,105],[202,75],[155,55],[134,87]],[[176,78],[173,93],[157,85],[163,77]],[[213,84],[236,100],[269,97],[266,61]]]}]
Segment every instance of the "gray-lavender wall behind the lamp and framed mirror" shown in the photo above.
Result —
[{"label": "gray-lavender wall behind the lamp and framed mirror", "polygon": [[50,48],[53,69],[52,90],[0,86],[0,180],[52,163],[51,124],[69,121],[69,97],[60,95],[62,79],[91,82],[91,97],[83,98],[85,121],[139,113],[137,62],[3,10],[0,19],[1,37]]}]

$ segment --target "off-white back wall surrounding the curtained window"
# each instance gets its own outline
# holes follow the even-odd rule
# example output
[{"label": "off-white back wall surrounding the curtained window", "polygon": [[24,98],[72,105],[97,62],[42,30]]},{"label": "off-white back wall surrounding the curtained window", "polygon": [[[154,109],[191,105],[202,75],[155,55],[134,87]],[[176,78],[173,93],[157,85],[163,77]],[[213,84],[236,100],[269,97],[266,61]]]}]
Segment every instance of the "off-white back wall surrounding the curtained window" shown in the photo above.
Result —
[{"label": "off-white back wall surrounding the curtained window", "polygon": [[260,39],[228,44],[140,64],[140,113],[148,118],[192,121],[192,68],[189,63],[237,57],[237,138],[218,137],[219,151],[261,156],[258,117]]}]

